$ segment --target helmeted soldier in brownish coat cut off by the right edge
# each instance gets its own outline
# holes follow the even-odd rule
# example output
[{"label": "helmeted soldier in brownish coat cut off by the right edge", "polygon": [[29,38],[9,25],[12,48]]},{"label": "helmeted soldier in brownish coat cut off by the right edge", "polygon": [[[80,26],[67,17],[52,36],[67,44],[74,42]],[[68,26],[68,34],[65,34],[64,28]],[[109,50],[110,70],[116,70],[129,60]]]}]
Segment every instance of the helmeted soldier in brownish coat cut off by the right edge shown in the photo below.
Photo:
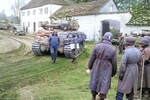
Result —
[{"label": "helmeted soldier in brownish coat cut off by the right edge", "polygon": [[[142,60],[144,63],[144,74],[143,74],[143,86],[142,86],[142,96],[144,97],[145,92],[148,90],[148,96],[150,97],[150,37],[145,36],[140,41],[140,46],[142,47]],[[140,73],[140,76],[142,73]],[[140,82],[139,82],[140,83]]]}]

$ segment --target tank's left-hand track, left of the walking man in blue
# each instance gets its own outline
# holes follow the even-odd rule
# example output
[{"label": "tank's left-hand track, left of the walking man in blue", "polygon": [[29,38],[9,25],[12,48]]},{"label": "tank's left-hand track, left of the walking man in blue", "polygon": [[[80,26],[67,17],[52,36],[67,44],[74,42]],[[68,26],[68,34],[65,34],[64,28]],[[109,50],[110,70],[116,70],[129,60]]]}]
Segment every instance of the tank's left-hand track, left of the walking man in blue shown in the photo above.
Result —
[{"label": "tank's left-hand track, left of the walking man in blue", "polygon": [[41,45],[37,42],[34,42],[32,44],[32,51],[36,56],[41,56],[42,52],[41,52]]}]

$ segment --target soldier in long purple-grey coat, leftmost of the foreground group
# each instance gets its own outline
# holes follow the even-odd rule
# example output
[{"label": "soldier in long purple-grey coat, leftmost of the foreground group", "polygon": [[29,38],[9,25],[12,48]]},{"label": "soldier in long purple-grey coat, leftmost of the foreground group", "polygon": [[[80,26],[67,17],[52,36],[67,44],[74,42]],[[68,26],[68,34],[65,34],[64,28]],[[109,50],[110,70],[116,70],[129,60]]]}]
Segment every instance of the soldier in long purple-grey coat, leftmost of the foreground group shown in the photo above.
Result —
[{"label": "soldier in long purple-grey coat, leftmost of the foreground group", "polygon": [[89,88],[95,100],[99,93],[100,100],[104,100],[110,89],[111,77],[115,76],[117,70],[117,51],[112,46],[113,35],[106,32],[102,43],[97,44],[89,59],[88,68],[91,70]]}]

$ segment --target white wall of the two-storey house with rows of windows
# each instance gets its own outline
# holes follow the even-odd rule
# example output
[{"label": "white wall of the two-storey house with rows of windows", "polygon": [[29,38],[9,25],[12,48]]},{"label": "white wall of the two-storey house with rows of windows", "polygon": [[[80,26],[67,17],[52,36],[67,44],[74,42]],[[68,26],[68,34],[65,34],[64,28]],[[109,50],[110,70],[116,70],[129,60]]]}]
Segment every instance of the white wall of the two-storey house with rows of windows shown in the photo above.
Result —
[{"label": "white wall of the two-storey house with rows of windows", "polygon": [[[50,23],[50,15],[53,14],[55,11],[57,11],[59,8],[62,6],[60,5],[54,5],[54,4],[49,4],[49,5],[44,5],[41,7],[37,8],[32,8],[32,9],[26,9],[22,10],[21,12],[21,25],[22,27],[28,27],[28,32],[32,33],[34,32],[34,23],[36,24],[35,26],[35,31],[38,31],[38,28],[40,27],[40,23]],[[43,9],[43,10],[41,10]],[[46,11],[46,9],[48,9]],[[35,11],[35,14],[34,14]],[[30,12],[30,14],[29,14]]]}]

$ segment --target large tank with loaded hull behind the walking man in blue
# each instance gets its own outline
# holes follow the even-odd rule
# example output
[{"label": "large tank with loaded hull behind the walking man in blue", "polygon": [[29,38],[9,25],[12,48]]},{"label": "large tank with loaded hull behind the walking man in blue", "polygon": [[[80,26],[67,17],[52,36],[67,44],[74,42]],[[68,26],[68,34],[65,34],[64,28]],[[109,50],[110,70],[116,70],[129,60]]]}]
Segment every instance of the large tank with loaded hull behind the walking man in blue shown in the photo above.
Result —
[{"label": "large tank with loaded hull behind the walking man in blue", "polygon": [[[32,44],[32,51],[36,56],[42,56],[50,52],[48,38],[52,35],[52,30],[57,30],[60,39],[58,52],[67,58],[76,58],[84,50],[86,35],[77,31],[79,28],[77,20],[56,20],[51,24],[42,24],[45,34],[35,36],[35,42]],[[67,30],[66,30],[67,29]]]}]

